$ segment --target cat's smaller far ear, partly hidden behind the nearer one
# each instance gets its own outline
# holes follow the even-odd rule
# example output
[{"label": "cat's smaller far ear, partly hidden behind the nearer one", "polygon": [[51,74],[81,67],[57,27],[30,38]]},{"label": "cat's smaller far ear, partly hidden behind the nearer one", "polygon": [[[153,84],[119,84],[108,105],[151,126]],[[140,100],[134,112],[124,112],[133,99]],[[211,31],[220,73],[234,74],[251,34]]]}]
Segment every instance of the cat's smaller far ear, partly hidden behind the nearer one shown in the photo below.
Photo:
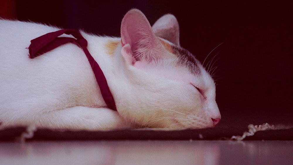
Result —
[{"label": "cat's smaller far ear, partly hidden behind the nearer one", "polygon": [[164,38],[173,44],[180,46],[179,43],[179,23],[175,16],[166,14],[159,18],[153,25],[156,36]]}]

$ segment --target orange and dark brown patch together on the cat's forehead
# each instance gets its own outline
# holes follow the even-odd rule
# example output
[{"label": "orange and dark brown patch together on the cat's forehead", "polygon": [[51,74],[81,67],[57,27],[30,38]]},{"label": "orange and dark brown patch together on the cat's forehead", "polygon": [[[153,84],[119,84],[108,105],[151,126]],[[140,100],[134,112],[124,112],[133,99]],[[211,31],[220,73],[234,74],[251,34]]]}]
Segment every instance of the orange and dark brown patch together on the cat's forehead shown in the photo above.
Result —
[{"label": "orange and dark brown patch together on the cat's forehead", "polygon": [[200,68],[198,67],[201,64],[192,53],[190,53],[188,50],[180,46],[176,46],[173,44],[171,45],[168,42],[161,39],[160,41],[168,52],[178,57],[176,66],[185,67],[194,75],[201,74]]}]

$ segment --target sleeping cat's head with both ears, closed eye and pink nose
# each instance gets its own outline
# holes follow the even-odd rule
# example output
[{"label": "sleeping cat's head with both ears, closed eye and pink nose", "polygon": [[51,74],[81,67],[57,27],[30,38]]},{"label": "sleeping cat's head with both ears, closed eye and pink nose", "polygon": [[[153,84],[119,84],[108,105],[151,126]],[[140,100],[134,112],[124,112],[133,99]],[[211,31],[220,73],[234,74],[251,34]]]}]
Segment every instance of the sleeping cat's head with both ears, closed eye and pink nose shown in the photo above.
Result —
[{"label": "sleeping cat's head with both ears, closed eye and pink nose", "polygon": [[195,56],[180,47],[173,15],[162,16],[151,27],[141,11],[130,10],[122,20],[120,48],[127,79],[120,82],[123,93],[115,101],[125,120],[171,129],[219,122],[214,81]]}]

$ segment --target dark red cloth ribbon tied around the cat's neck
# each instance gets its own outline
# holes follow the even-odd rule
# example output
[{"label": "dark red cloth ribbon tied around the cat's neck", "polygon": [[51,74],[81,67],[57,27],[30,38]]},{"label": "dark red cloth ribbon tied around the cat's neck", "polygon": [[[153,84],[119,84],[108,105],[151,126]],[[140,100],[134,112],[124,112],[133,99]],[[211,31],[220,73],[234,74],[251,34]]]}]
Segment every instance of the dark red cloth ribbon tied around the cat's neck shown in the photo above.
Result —
[{"label": "dark red cloth ribbon tied around the cat's neck", "polygon": [[[72,35],[74,38],[59,37],[62,34]],[[90,52],[88,52],[88,49],[87,49],[88,42],[86,41],[86,39],[84,39],[84,37],[81,35],[79,31],[73,30],[73,29],[58,30],[56,32],[51,32],[51,33],[42,35],[38,38],[31,40],[30,42],[31,44],[28,47],[28,50],[29,50],[28,56],[31,59],[38,57],[39,55],[49,52],[50,50],[53,50],[56,47],[69,43],[69,42],[74,43],[78,45],[79,47],[81,47],[81,49],[86,54],[86,57],[88,58],[88,62],[90,63],[93,69],[93,72],[96,77],[96,81],[98,82],[98,85],[100,87],[100,91],[104,98],[105,103],[107,104],[108,108],[117,110],[115,106],[114,98],[109,89],[105,75],[103,74],[103,71],[101,70],[98,63],[91,56]]]}]

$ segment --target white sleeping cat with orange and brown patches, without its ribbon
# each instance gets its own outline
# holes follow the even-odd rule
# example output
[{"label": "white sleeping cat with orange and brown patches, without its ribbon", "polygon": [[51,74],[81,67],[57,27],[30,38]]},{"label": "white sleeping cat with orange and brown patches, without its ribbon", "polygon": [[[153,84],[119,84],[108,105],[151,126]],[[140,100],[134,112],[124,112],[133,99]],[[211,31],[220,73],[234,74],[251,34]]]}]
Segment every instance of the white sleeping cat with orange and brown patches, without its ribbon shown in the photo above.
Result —
[{"label": "white sleeping cat with orange and brown patches, without its ribbon", "polygon": [[0,20],[0,27],[0,128],[194,129],[213,127],[221,119],[214,81],[180,47],[179,25],[171,14],[151,27],[141,11],[132,9],[122,20],[121,38],[80,31],[117,111],[108,108],[76,44],[28,57],[31,40],[59,28],[8,20]]}]

